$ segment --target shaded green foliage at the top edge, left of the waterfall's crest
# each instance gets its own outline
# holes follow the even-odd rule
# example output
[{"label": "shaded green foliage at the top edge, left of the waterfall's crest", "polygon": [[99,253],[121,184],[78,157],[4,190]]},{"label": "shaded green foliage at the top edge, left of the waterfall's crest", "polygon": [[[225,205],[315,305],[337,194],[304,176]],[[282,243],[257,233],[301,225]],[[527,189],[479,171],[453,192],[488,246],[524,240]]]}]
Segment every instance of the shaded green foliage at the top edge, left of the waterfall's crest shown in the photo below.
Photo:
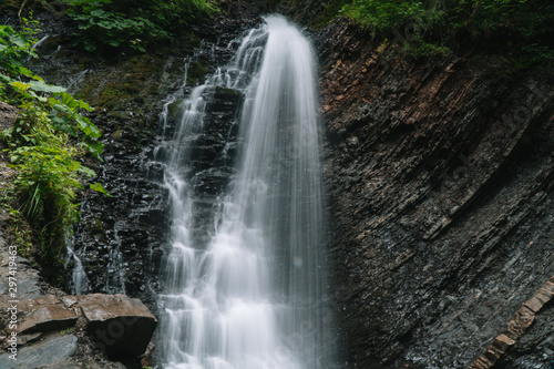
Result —
[{"label": "shaded green foliage at the top edge, left of the waterfall's crest", "polygon": [[192,19],[217,13],[206,0],[63,0],[78,23],[78,41],[88,51],[129,48],[144,52],[153,40],[167,40]]}]

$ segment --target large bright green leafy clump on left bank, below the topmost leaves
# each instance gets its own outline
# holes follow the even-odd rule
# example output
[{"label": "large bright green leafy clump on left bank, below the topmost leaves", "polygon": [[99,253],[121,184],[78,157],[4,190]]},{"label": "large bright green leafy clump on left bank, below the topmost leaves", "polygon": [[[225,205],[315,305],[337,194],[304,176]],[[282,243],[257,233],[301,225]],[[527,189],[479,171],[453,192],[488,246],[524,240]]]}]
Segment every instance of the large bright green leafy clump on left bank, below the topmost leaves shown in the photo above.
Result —
[{"label": "large bright green leafy clump on left bank, below the topmost leaves", "polygon": [[[76,192],[83,188],[80,178],[95,175],[82,166],[78,157],[85,150],[100,155],[101,144],[94,145],[95,141],[92,141],[100,132],[78,113],[80,106],[89,106],[79,104],[65,92],[55,92],[58,99],[47,99],[47,92],[32,90],[30,83],[11,84],[21,99],[20,117],[11,130],[3,132],[10,145],[10,161],[18,170],[14,185],[21,211],[39,229],[40,259],[42,264],[54,265],[63,253],[73,223],[78,221],[74,201]],[[47,90],[42,84],[40,89]],[[81,135],[86,139],[70,143],[71,134],[65,130],[75,136],[73,140]]]}]

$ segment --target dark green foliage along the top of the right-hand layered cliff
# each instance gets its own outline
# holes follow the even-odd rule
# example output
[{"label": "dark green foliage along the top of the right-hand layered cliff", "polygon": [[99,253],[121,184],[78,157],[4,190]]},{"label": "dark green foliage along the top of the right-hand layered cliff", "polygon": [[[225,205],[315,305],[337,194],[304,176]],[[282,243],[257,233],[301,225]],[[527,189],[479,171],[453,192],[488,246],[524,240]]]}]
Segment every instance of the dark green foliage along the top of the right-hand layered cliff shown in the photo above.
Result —
[{"label": "dark green foliage along the top of the right-hand layered cliff", "polygon": [[340,13],[373,35],[401,35],[416,57],[507,52],[521,65],[553,63],[554,3],[542,0],[350,0]]}]

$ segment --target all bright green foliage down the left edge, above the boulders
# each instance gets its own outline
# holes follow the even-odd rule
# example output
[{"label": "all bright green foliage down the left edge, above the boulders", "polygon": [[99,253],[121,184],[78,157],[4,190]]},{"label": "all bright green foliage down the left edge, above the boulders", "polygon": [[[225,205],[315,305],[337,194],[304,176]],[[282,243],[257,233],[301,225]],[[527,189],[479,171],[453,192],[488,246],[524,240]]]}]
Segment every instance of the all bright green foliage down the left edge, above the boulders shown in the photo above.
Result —
[{"label": "all bright green foliage down the left edge, above the boulders", "polygon": [[[37,257],[43,266],[57,266],[79,213],[74,203],[81,180],[93,177],[79,158],[89,153],[100,160],[99,129],[81,112],[92,111],[65,89],[49,85],[23,65],[33,57],[33,30],[16,31],[2,25],[0,49],[0,99],[20,109],[12,129],[3,131],[11,166],[18,170],[13,192],[20,209],[34,229]],[[105,193],[99,183],[91,189]],[[16,222],[19,227],[21,222]],[[25,245],[28,245],[25,243]],[[19,247],[29,254],[29,247]]]}]

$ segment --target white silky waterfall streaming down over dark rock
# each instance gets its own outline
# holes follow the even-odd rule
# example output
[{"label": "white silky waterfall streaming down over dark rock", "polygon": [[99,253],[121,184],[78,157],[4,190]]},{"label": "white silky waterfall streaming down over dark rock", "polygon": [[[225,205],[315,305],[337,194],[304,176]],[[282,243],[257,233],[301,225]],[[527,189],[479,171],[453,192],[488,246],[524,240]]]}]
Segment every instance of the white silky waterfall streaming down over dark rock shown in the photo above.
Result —
[{"label": "white silky waterfall streaming down over dark rock", "polygon": [[[265,21],[227,68],[192,90],[173,141],[157,151],[173,208],[157,334],[164,368],[316,369],[330,361],[314,53],[283,17]],[[206,199],[187,163],[222,88],[244,95],[239,154],[209,227],[196,224]]]}]

